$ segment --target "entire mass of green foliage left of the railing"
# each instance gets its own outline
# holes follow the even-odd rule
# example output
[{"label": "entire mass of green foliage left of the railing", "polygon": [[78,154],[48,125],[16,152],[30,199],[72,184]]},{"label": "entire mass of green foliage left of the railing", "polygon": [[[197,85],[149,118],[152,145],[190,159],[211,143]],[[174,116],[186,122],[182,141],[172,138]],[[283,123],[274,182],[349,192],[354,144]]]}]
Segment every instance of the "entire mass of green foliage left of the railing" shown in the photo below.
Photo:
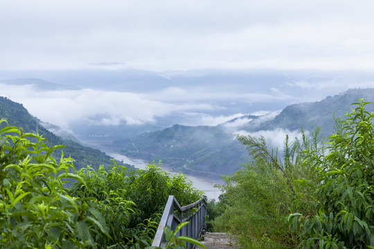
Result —
[{"label": "entire mass of green foliage left of the railing", "polygon": [[[113,163],[69,173],[72,158],[53,158],[61,147],[17,127],[0,129],[0,248],[145,248],[166,194],[182,203],[202,194],[186,176],[153,164],[135,172]],[[72,188],[66,178],[75,180]]]}]

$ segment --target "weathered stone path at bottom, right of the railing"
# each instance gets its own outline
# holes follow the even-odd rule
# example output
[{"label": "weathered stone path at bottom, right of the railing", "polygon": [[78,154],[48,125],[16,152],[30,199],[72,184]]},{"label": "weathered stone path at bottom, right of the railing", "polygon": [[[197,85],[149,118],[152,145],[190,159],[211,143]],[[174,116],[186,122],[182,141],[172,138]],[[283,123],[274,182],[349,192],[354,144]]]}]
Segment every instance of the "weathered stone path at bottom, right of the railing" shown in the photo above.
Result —
[{"label": "weathered stone path at bottom, right of the railing", "polygon": [[[204,235],[204,241],[202,243],[208,249],[233,249],[238,248],[235,246],[235,239],[232,235],[224,232],[206,232]],[[197,246],[196,249],[202,249]]]}]

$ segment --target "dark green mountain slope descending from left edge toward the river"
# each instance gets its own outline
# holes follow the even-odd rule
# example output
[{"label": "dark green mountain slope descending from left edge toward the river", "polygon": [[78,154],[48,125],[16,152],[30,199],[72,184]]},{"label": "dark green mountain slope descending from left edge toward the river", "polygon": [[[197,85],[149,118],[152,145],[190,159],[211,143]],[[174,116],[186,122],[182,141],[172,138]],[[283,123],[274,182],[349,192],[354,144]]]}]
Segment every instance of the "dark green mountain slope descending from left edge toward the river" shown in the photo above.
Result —
[{"label": "dark green mountain slope descending from left edge toward the river", "polygon": [[[20,127],[25,132],[39,133],[48,140],[48,146],[65,145],[63,149],[64,156],[71,156],[75,159],[75,169],[82,167],[98,168],[100,165],[109,165],[111,163],[110,157],[98,149],[84,147],[73,140],[62,139],[59,136],[51,133],[45,129],[37,118],[28,113],[22,104],[12,102],[8,98],[0,97],[0,118],[6,118],[9,125]],[[61,151],[57,151],[55,158],[60,158]]]}]

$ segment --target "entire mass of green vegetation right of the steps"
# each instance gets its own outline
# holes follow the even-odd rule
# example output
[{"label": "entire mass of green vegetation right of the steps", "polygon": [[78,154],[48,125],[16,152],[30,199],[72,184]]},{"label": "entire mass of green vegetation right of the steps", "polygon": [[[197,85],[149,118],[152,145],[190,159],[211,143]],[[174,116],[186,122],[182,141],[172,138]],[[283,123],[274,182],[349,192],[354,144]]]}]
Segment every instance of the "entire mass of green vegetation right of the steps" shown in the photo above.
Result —
[{"label": "entire mass of green vegetation right of the steps", "polygon": [[374,113],[354,105],[327,144],[319,129],[286,138],[283,162],[264,138],[238,136],[252,160],[226,176],[215,230],[244,248],[374,248]]}]

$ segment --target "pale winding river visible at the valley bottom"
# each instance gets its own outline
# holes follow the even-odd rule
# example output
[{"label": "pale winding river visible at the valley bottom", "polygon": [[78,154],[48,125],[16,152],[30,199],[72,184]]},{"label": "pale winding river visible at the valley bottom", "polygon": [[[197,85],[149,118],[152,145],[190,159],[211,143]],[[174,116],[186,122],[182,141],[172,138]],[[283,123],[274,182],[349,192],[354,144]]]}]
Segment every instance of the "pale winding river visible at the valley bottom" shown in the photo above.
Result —
[{"label": "pale winding river visible at the valley bottom", "polygon": [[[107,153],[109,156],[112,156],[114,159],[123,161],[123,163],[127,163],[129,165],[134,165],[134,167],[138,169],[145,169],[147,167],[148,163],[145,162],[144,160],[141,159],[136,159],[136,158],[129,158],[127,156],[123,156],[121,154],[117,153]],[[163,168],[161,165],[161,169],[169,172],[170,174],[175,174],[175,172],[170,172],[168,169]],[[188,179],[190,179],[193,182],[193,187],[196,187],[199,190],[203,190],[208,196],[208,199],[215,199],[218,200],[218,196],[220,196],[221,191],[217,188],[214,187],[215,182],[214,180],[210,178],[204,178],[204,177],[199,177],[199,176],[188,176]]]}]

